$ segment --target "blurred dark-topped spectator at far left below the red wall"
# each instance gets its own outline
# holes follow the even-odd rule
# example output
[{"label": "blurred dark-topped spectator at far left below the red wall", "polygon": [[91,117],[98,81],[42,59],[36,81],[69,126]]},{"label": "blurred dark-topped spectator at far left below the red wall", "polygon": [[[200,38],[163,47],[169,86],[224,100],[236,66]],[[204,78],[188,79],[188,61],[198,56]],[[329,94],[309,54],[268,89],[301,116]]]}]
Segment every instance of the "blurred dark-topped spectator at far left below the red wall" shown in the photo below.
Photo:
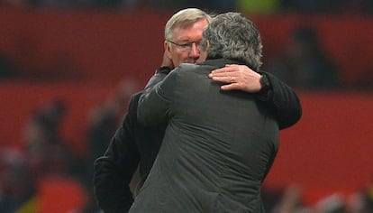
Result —
[{"label": "blurred dark-topped spectator at far left below the red wall", "polygon": [[25,126],[25,153],[36,180],[47,175],[81,175],[81,161],[60,134],[66,110],[64,100],[50,101],[40,106]]}]

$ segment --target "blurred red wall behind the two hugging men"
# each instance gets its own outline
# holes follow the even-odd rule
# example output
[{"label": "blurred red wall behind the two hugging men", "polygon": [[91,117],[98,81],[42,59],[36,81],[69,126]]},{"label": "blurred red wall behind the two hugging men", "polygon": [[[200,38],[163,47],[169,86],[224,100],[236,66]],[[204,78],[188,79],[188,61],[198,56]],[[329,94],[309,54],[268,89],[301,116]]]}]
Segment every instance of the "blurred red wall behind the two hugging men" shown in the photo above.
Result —
[{"label": "blurred red wall behind the two hugging men", "polygon": [[[145,84],[159,66],[163,27],[170,15],[0,8],[0,51],[24,77],[0,81],[1,144],[22,146],[23,125],[32,110],[64,97],[68,116],[62,132],[77,153],[84,154],[88,111],[113,92],[120,80],[135,80],[139,88]],[[261,32],[265,60],[282,50],[292,29],[307,23],[318,29],[346,88],[372,76],[372,19],[250,18]],[[348,194],[366,186],[373,180],[372,92],[298,93],[304,116],[282,132],[280,151],[265,185],[277,189],[298,183],[310,203],[335,191]]]}]

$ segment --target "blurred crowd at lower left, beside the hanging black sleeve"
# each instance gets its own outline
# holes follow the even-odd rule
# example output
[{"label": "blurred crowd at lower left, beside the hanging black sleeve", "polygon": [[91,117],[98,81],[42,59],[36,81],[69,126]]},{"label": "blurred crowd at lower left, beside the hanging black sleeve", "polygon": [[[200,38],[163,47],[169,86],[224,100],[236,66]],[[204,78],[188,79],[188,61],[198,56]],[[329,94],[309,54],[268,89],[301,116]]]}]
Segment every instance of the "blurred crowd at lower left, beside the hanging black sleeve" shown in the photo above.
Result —
[{"label": "blurred crowd at lower left, beside the hanging black sleeve", "polygon": [[86,115],[86,154],[77,153],[62,134],[61,124],[69,107],[66,100],[51,99],[35,108],[23,133],[18,133],[23,134],[21,147],[0,148],[0,212],[39,212],[38,188],[49,179],[77,182],[86,195],[86,205],[74,210],[98,212],[93,196],[93,163],[105,152],[135,90],[132,82],[121,83],[114,94],[92,106]]}]

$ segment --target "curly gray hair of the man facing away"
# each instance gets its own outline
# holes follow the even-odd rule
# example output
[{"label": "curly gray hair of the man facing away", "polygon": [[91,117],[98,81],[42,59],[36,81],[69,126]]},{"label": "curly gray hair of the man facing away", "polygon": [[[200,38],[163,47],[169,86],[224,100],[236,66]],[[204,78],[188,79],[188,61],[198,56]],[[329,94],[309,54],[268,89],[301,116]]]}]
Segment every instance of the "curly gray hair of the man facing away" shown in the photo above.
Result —
[{"label": "curly gray hair of the man facing away", "polygon": [[259,30],[239,13],[218,14],[203,33],[202,50],[210,42],[208,58],[240,60],[251,69],[261,66],[262,44]]}]

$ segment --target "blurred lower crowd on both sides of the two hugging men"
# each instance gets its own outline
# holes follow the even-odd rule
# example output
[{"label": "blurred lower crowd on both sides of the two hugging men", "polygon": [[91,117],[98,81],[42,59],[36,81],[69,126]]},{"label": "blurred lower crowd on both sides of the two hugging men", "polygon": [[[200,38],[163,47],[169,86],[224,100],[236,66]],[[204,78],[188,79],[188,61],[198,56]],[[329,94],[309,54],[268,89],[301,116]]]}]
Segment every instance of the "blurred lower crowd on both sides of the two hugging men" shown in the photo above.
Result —
[{"label": "blurred lower crowd on both sides of the two hugging men", "polygon": [[[78,155],[67,145],[60,125],[68,106],[57,98],[35,109],[24,124],[22,149],[6,147],[0,153],[0,212],[38,212],[38,187],[50,177],[77,181],[85,190],[83,207],[74,213],[100,213],[93,196],[93,161],[105,152],[105,147],[121,122],[128,98],[136,89],[122,85],[100,106],[89,112],[85,156]],[[369,213],[373,212],[373,182],[366,188],[346,196],[334,193],[313,204],[305,202],[302,187],[290,185],[283,190],[262,190],[268,213]],[[68,199],[68,198],[63,198]]]}]

